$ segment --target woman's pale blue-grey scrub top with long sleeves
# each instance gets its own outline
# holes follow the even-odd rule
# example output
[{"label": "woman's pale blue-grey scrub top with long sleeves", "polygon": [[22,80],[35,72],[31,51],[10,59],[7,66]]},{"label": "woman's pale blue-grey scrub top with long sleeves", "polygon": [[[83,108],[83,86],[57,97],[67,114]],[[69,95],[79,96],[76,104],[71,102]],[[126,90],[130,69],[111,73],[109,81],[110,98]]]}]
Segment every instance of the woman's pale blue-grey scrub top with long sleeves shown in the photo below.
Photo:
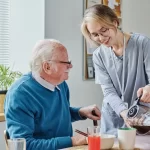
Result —
[{"label": "woman's pale blue-grey scrub top with long sleeves", "polygon": [[[124,126],[120,112],[133,104],[140,87],[150,83],[150,39],[141,34],[132,34],[125,49],[125,57],[117,57],[111,51],[111,48],[101,45],[93,53],[93,63],[95,82],[101,85],[104,94],[101,132],[116,135],[117,128]],[[123,58],[124,100],[114,67],[115,63],[122,86]]]}]

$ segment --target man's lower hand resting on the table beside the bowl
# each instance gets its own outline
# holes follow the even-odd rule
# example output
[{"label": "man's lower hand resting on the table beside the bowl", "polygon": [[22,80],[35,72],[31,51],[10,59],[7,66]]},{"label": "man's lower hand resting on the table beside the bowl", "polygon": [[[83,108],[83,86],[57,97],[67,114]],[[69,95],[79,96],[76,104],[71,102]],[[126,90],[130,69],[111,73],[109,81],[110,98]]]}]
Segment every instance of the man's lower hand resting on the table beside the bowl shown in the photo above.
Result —
[{"label": "man's lower hand resting on the table beside the bowl", "polygon": [[72,146],[79,146],[87,144],[87,139],[83,135],[75,135],[71,137],[72,139]]}]

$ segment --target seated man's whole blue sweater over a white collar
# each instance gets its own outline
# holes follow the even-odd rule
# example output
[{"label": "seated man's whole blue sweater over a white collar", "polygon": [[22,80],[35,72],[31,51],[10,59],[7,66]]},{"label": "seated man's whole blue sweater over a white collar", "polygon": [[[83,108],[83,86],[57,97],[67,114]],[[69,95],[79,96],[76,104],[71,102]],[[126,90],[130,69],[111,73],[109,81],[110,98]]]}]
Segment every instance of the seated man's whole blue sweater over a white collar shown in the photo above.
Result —
[{"label": "seated man's whole blue sweater over a white collar", "polygon": [[26,138],[27,150],[57,150],[72,146],[71,122],[81,120],[79,108],[70,107],[66,82],[50,91],[31,73],[7,92],[5,117],[10,138]]}]

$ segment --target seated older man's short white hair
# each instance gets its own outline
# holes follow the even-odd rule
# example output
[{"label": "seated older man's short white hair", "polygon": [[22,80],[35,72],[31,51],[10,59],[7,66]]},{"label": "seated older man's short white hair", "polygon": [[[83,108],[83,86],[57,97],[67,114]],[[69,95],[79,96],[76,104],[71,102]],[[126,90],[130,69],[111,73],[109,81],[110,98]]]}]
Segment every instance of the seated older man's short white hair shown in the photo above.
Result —
[{"label": "seated older man's short white hair", "polygon": [[54,50],[63,46],[55,39],[44,39],[38,41],[32,52],[30,68],[32,72],[40,73],[42,71],[42,63],[53,57]]}]

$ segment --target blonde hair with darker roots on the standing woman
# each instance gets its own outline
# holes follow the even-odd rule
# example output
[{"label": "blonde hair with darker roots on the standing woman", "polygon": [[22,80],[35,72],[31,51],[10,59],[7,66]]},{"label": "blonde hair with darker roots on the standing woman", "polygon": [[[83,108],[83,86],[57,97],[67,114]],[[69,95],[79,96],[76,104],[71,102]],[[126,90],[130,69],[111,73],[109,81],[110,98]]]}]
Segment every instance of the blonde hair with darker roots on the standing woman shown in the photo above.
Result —
[{"label": "blonde hair with darker roots on the standing woman", "polygon": [[90,33],[87,29],[87,23],[90,21],[96,21],[104,25],[104,27],[113,28],[116,30],[116,27],[113,24],[113,21],[116,21],[119,26],[119,19],[115,12],[106,5],[96,4],[86,9],[81,24],[81,32],[85,39],[93,45],[97,45],[95,41],[90,38]]}]

